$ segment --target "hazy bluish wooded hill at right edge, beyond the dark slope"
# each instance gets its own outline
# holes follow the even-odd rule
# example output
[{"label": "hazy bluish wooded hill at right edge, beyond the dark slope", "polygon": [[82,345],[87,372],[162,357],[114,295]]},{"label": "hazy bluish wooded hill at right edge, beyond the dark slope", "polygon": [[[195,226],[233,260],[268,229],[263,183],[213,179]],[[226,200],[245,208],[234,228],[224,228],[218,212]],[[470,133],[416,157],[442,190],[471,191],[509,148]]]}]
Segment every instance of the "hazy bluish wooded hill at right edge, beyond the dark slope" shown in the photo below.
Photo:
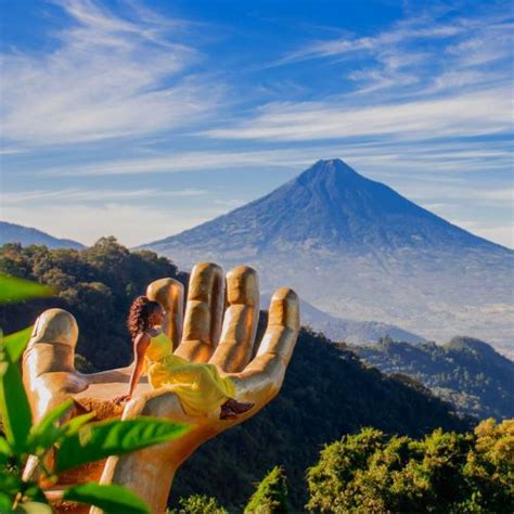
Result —
[{"label": "hazy bluish wooded hill at right edge, beyond the dark slope", "polygon": [[514,417],[514,362],[483,340],[453,337],[446,345],[414,346],[386,338],[351,349],[384,373],[414,377],[463,414]]}]

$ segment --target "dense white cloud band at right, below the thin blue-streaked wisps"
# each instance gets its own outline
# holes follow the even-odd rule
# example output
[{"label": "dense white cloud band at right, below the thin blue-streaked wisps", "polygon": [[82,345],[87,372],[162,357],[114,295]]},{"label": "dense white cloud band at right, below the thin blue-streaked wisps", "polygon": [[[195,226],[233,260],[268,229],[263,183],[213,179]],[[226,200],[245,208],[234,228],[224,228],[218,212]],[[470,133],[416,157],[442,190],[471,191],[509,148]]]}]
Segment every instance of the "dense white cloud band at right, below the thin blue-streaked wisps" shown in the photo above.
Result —
[{"label": "dense white cloud band at right, below the thin blue-streaked wisps", "polygon": [[414,102],[352,107],[336,102],[272,103],[252,119],[210,129],[210,138],[308,141],[364,136],[402,140],[483,136],[512,130],[510,88]]}]

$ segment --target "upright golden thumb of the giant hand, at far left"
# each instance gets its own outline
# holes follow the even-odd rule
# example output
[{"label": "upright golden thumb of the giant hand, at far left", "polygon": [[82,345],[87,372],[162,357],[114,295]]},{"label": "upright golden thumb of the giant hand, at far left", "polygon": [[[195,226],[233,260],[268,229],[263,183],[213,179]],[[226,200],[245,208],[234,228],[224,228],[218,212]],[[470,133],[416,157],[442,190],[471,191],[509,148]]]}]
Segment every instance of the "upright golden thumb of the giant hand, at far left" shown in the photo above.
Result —
[{"label": "upright golden thumb of the giant hand, at far left", "polygon": [[75,371],[77,338],[77,322],[63,309],[46,310],[37,319],[22,364],[35,422],[88,387],[87,378]]}]

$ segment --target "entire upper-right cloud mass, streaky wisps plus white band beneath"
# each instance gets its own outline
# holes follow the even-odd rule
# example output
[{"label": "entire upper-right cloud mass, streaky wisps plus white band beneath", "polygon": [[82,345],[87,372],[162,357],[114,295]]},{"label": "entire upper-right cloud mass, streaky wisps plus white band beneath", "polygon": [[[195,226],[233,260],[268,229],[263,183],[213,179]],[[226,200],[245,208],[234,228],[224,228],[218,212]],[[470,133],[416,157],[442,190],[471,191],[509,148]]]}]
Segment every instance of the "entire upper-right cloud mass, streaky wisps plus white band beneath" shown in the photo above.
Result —
[{"label": "entire upper-right cloud mass, streaky wisps plus white band beneath", "polygon": [[349,79],[345,93],[264,104],[202,134],[266,141],[373,136],[415,143],[512,133],[511,17],[493,13],[438,23],[425,15],[376,35],[310,42],[274,64],[331,60],[331,68]]}]

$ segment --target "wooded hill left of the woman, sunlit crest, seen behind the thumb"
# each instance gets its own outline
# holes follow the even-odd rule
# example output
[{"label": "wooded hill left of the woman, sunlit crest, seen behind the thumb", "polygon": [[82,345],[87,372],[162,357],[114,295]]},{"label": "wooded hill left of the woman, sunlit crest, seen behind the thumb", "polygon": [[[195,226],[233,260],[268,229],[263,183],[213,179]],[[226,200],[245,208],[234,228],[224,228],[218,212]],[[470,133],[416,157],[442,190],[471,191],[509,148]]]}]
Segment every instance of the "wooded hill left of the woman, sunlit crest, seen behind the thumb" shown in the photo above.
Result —
[{"label": "wooded hill left of the woman, sunlit crest, seen behind the thumb", "polygon": [[126,319],[133,298],[156,279],[187,282],[187,275],[168,259],[147,250],[130,253],[114,237],[102,237],[83,250],[5,244],[0,247],[0,273],[47,284],[55,292],[54,298],[4,306],[0,326],[18,331],[52,307],[72,312],[80,327],[81,371],[128,364],[132,347]]}]

